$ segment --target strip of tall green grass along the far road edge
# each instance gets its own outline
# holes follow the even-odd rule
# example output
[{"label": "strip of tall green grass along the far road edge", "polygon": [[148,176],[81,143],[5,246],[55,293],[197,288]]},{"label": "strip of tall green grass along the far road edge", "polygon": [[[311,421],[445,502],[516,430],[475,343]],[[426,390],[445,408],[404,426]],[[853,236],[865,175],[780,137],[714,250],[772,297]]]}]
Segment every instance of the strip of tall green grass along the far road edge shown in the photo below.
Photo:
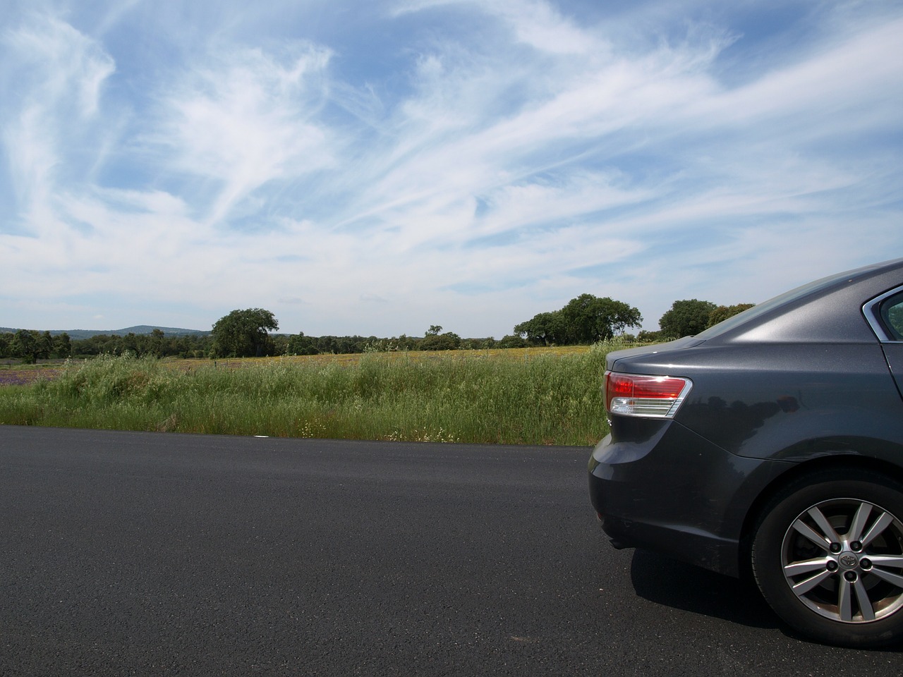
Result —
[{"label": "strip of tall green grass along the far road edge", "polygon": [[101,356],[0,388],[0,422],[348,440],[589,445],[607,432],[599,344],[522,358],[479,351],[356,363],[173,367]]}]

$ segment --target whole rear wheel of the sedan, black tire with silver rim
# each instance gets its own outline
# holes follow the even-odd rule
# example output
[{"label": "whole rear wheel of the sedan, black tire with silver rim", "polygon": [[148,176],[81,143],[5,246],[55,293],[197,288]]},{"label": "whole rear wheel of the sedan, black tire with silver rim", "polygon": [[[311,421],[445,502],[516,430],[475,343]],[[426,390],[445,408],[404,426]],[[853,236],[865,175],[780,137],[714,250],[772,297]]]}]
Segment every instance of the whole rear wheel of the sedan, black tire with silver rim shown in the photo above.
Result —
[{"label": "whole rear wheel of the sedan, black tire with silver rim", "polygon": [[762,512],[752,570],[787,625],[858,648],[903,640],[903,485],[845,469],[799,478]]}]

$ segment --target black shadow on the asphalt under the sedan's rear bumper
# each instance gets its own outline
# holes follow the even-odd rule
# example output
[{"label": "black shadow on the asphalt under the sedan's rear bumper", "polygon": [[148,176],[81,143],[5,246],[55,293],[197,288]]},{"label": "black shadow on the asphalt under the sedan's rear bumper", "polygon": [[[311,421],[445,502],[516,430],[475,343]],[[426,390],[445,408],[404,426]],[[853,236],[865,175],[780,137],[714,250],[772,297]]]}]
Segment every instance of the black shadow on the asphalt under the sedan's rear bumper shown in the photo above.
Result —
[{"label": "black shadow on the asphalt under the sedan's rear bumper", "polygon": [[732,579],[642,550],[634,552],[630,580],[641,598],[656,604],[744,626],[781,626],[752,580]]}]

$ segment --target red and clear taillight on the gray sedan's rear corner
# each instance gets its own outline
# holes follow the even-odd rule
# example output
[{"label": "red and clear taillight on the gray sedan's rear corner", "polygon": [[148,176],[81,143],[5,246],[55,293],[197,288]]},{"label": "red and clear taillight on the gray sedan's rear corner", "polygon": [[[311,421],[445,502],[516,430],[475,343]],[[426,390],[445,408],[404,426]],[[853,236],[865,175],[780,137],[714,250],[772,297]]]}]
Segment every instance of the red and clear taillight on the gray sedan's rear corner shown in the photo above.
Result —
[{"label": "red and clear taillight on the gray sedan's rear corner", "polygon": [[671,418],[693,383],[678,376],[605,372],[605,408],[623,416]]}]

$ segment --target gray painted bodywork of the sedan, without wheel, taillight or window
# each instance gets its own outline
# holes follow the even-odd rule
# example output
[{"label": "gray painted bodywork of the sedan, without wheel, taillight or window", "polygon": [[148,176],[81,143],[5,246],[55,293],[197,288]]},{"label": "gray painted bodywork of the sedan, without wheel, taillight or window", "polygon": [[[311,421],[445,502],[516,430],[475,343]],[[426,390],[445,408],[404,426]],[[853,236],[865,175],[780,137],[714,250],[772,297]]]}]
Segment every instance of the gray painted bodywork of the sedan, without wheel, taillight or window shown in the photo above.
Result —
[{"label": "gray painted bodywork of the sedan, without wheel, taillight or window", "polygon": [[866,305],[901,283],[903,259],[865,266],[696,337],[610,353],[610,371],[694,385],[673,420],[610,415],[589,465],[606,533],[738,575],[750,516],[785,476],[868,462],[903,477],[903,342]]}]

